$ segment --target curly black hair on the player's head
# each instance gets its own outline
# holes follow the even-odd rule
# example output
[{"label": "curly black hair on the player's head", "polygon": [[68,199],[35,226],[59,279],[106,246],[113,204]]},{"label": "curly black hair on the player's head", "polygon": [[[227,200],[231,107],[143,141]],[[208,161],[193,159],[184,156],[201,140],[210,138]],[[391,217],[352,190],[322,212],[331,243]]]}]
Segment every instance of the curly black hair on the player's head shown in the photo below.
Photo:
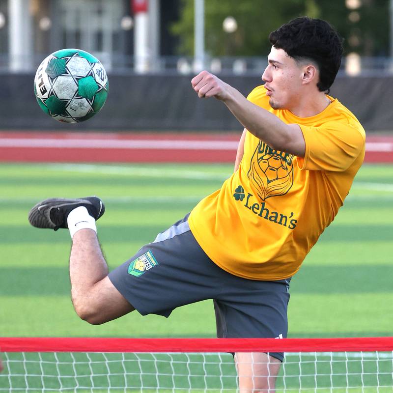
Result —
[{"label": "curly black hair on the player's head", "polygon": [[282,25],[269,35],[276,49],[283,49],[295,61],[312,61],[319,69],[319,91],[329,93],[343,52],[342,38],[328,22],[306,16]]}]

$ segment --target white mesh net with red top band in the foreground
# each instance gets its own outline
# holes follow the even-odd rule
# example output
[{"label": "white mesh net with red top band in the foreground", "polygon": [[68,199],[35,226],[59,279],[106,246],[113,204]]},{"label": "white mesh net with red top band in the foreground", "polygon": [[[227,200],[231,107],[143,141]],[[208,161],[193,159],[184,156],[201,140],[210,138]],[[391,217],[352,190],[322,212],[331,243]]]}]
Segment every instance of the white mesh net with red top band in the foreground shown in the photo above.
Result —
[{"label": "white mesh net with red top band in the foreground", "polygon": [[234,393],[232,352],[281,351],[276,393],[393,392],[393,337],[8,337],[0,338],[0,348],[0,392]]}]

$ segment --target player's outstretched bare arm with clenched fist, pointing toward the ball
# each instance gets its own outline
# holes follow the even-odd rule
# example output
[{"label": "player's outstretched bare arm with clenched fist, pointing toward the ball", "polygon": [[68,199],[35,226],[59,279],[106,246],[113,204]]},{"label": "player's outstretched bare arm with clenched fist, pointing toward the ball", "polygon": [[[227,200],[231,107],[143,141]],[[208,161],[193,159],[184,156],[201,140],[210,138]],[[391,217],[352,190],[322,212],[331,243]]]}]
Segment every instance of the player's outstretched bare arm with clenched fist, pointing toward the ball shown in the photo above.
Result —
[{"label": "player's outstretched bare arm with clenched fist, pointing toward the ball", "polygon": [[215,75],[202,71],[191,84],[198,97],[215,97],[224,102],[229,111],[255,137],[275,150],[304,157],[306,143],[299,125],[286,124],[274,114],[258,107]]}]

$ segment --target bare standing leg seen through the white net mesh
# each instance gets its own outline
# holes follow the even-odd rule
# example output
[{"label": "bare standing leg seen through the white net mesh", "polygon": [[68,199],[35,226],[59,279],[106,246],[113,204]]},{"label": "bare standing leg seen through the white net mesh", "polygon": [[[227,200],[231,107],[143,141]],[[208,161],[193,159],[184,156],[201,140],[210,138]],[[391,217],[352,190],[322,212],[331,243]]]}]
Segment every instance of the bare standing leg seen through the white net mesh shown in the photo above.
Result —
[{"label": "bare standing leg seen through the white net mesh", "polygon": [[237,352],[240,393],[274,393],[281,361],[261,352]]}]

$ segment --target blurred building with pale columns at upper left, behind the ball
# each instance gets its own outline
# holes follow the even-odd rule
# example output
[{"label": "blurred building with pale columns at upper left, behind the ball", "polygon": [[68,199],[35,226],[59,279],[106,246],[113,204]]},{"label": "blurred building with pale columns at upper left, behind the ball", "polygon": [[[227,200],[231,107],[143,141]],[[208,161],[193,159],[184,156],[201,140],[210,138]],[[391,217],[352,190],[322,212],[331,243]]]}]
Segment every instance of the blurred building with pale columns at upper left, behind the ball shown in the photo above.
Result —
[{"label": "blurred building with pale columns at upper left, behind the ball", "polygon": [[138,13],[149,67],[171,56],[168,24],[178,0],[0,0],[0,69],[33,70],[48,54],[81,48],[98,56],[110,71],[135,64]]}]

